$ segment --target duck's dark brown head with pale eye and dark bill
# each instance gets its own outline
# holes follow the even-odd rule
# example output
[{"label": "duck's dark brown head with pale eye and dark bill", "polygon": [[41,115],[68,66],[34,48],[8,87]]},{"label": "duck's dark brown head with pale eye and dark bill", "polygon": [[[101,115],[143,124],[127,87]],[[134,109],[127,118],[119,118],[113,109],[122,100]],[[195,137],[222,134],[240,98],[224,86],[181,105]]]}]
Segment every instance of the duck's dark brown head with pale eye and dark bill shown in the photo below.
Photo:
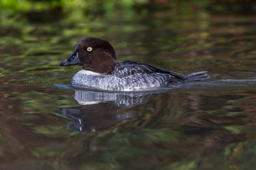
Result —
[{"label": "duck's dark brown head with pale eye and dark bill", "polygon": [[74,47],[74,53],[60,63],[60,66],[82,66],[100,74],[111,72],[116,67],[116,52],[107,41],[86,37],[80,39]]}]

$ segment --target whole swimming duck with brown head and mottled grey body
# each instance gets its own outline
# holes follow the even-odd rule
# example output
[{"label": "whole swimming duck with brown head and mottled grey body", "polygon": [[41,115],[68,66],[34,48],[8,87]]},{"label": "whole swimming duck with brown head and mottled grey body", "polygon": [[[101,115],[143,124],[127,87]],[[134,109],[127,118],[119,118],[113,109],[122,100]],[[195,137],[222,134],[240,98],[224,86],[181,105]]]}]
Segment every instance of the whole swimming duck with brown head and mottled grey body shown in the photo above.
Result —
[{"label": "whole swimming duck with brown head and mottled grey body", "polygon": [[60,66],[82,66],[73,76],[73,86],[112,91],[137,91],[152,87],[175,87],[180,82],[210,78],[207,71],[189,75],[163,70],[148,64],[116,62],[116,52],[107,41],[86,37]]}]

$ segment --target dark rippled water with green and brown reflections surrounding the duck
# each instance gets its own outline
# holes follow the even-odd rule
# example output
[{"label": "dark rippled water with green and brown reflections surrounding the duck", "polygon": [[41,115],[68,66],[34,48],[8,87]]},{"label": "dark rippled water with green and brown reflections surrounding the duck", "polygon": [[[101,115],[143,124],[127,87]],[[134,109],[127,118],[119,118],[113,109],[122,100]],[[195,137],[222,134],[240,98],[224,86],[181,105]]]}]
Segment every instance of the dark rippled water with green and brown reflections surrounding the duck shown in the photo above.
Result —
[{"label": "dark rippled water with green and brown reflections surrounding the duck", "polygon": [[[0,169],[255,169],[255,1],[0,2]],[[80,38],[211,79],[70,87]]]}]

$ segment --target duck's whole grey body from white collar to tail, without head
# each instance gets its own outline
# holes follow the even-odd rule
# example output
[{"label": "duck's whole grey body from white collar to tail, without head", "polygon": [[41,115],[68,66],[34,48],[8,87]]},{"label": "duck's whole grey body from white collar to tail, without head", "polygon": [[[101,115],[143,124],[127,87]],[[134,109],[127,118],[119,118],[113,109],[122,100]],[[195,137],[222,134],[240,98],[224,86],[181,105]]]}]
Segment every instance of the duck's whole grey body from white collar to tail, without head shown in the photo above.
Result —
[{"label": "duck's whole grey body from white collar to tail, without head", "polygon": [[115,69],[107,75],[86,75],[79,71],[74,75],[72,84],[101,90],[137,91],[153,87],[174,87],[180,82],[204,80],[209,77],[206,71],[186,76],[148,64],[117,62]]}]

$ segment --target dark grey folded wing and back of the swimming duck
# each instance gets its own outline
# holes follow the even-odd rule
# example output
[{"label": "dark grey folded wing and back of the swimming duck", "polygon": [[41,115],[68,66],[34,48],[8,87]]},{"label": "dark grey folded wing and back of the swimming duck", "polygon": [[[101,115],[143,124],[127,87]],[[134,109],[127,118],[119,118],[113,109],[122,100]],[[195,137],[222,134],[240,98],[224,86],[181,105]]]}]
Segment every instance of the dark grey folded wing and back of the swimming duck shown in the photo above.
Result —
[{"label": "dark grey folded wing and back of the swimming duck", "polygon": [[163,74],[171,74],[180,79],[187,79],[188,76],[184,74],[180,74],[178,72],[163,70],[162,68],[153,67],[149,64],[125,61],[125,62],[117,62],[116,67],[112,72],[109,72],[109,75],[115,74],[116,76],[123,77],[129,76],[137,73],[142,74],[154,74],[154,73],[163,73]]}]

